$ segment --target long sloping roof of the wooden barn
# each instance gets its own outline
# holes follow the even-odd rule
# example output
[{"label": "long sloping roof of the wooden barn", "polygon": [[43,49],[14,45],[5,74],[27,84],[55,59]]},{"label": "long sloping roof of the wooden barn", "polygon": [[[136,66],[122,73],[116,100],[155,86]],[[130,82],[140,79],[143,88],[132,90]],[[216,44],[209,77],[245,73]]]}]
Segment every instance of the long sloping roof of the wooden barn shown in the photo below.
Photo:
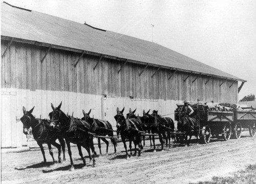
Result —
[{"label": "long sloping roof of the wooden barn", "polygon": [[215,77],[242,81],[241,78],[208,66],[159,44],[131,36],[96,29],[48,14],[26,10],[2,3],[2,39],[14,38],[43,46],[103,54],[104,57],[129,60],[185,72],[202,73]]}]

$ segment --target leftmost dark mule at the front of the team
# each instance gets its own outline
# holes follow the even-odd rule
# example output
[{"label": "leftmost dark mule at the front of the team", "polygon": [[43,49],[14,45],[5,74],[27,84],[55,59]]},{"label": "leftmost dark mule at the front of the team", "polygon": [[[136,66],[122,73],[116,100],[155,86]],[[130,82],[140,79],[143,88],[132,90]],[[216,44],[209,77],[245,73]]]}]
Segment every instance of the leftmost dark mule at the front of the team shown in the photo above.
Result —
[{"label": "leftmost dark mule at the front of the team", "polygon": [[[50,128],[50,121],[46,119],[38,119],[35,118],[31,113],[33,112],[34,108],[32,108],[30,111],[26,111],[26,108],[23,107],[23,117],[20,118],[20,120],[23,123],[23,133],[25,135],[28,135],[28,129],[32,128],[32,135],[37,142],[38,146],[41,149],[42,156],[44,157],[44,164],[46,164],[46,156],[45,156],[45,150],[44,147],[42,147],[42,144],[47,143],[50,155],[52,156],[53,163],[55,162],[52,152],[52,146],[55,146],[58,149],[58,161],[61,163],[61,147],[63,151],[63,161],[66,160],[65,158],[65,141],[64,139],[59,135],[59,133],[56,130],[53,130]],[[59,140],[61,146],[56,143],[56,139]]]}]

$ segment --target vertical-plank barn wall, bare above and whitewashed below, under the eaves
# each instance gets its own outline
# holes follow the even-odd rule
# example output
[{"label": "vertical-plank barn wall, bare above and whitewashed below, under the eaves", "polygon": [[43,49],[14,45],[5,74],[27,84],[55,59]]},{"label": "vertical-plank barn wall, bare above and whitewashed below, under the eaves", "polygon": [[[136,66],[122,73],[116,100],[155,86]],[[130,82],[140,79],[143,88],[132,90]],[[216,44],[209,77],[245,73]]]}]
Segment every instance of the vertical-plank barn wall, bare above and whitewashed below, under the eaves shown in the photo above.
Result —
[{"label": "vertical-plank barn wall, bare above and whitewashed below, under the eaves", "polygon": [[[7,45],[8,42],[2,40],[2,54]],[[184,72],[176,72],[168,80],[173,70],[161,68],[152,77],[157,70],[152,66],[148,66],[139,76],[145,66],[133,63],[126,63],[117,73],[124,62],[106,58],[102,58],[94,70],[99,57],[89,55],[84,55],[74,67],[81,54],[57,49],[51,49],[41,62],[47,49],[13,43],[2,59],[2,136],[11,135],[11,139],[2,142],[2,147],[27,144],[22,133],[22,123],[18,122],[23,116],[23,106],[27,109],[35,106],[33,115],[48,118],[52,111],[51,102],[58,106],[62,101],[61,109],[65,113],[74,112],[75,117],[82,117],[82,110],[92,109],[95,118],[105,119],[110,118],[109,115],[104,116],[105,112],[116,113],[116,107],[122,108],[125,104],[134,108],[138,106],[137,112],[140,114],[143,105],[145,110],[156,108],[161,109],[160,114],[167,114],[174,111],[175,103],[184,99],[238,102],[238,82],[229,88],[232,81],[227,80],[220,86],[223,80],[211,78],[205,85],[209,77],[200,76],[193,83],[197,77],[195,74],[184,82],[189,75]],[[102,94],[108,95],[113,101],[107,100],[108,103],[105,104],[102,102]],[[133,103],[129,96],[134,96]],[[127,99],[130,100],[129,103],[125,102]],[[129,111],[129,107],[125,108],[126,112]]]}]

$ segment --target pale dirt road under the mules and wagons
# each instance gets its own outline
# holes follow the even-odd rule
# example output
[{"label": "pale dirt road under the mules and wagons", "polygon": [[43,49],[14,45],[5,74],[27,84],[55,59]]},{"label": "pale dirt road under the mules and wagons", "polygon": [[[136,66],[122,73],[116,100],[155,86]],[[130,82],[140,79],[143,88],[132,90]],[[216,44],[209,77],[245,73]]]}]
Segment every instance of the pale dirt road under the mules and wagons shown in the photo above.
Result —
[{"label": "pale dirt road under the mules and wagons", "polygon": [[[69,171],[70,160],[66,151],[66,162],[52,164],[47,148],[47,165],[42,165],[40,150],[3,153],[2,183],[189,183],[210,180],[212,176],[228,176],[230,173],[256,164],[256,139],[243,132],[239,140],[211,140],[210,144],[196,144],[191,140],[189,147],[184,144],[172,145],[153,152],[146,141],[141,156],[125,159],[123,144],[118,143],[117,153],[110,145],[109,155],[96,157],[96,167],[89,164],[82,167],[77,148],[72,147],[75,170]],[[128,144],[127,144],[128,146]],[[99,152],[98,146],[95,149]],[[105,152],[105,145],[102,145]],[[54,149],[55,159],[57,150]]]}]

